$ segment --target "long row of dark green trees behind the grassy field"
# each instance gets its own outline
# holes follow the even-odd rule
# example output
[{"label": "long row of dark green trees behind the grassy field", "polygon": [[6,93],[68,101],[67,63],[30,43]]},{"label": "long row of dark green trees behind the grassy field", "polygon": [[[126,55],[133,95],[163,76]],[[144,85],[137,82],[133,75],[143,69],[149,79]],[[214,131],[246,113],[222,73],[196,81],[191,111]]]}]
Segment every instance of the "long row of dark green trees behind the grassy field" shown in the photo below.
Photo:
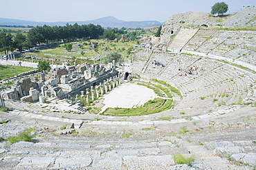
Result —
[{"label": "long row of dark green trees behind the grassy field", "polygon": [[60,41],[71,41],[75,39],[98,39],[102,36],[104,29],[100,25],[74,25],[66,24],[65,26],[48,26],[35,27],[28,33],[21,34],[17,32],[12,36],[9,32],[0,32],[0,52],[14,51],[20,52],[30,47],[35,47],[41,43],[57,43]]}]

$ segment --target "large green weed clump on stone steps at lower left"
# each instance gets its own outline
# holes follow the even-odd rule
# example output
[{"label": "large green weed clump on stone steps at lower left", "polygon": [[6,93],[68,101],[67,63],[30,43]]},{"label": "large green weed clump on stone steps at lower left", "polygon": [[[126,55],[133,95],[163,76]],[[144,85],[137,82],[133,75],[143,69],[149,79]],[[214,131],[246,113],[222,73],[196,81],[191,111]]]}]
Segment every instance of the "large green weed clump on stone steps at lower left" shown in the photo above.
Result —
[{"label": "large green weed clump on stone steps at lower left", "polygon": [[24,129],[24,131],[21,131],[18,136],[9,136],[7,140],[10,142],[10,144],[13,144],[15,142],[19,141],[26,141],[26,142],[32,142],[32,138],[34,138],[36,135],[30,135],[32,131],[34,131],[34,128],[27,128]]}]

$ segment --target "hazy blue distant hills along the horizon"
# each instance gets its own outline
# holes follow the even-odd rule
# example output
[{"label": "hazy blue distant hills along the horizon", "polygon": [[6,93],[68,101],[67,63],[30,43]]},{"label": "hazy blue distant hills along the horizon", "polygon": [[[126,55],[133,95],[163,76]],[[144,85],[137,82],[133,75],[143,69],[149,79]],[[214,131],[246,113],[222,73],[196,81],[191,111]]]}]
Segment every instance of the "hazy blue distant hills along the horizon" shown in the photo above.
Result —
[{"label": "hazy blue distant hills along the horizon", "polygon": [[31,25],[31,26],[42,26],[44,24],[55,26],[55,25],[66,25],[66,23],[74,24],[77,23],[78,25],[87,25],[89,23],[93,23],[95,25],[101,25],[104,28],[110,27],[110,28],[142,28],[145,26],[150,25],[162,25],[163,23],[160,23],[158,21],[122,21],[119,19],[116,19],[115,17],[103,17],[100,19],[95,19],[92,21],[62,21],[62,22],[36,22],[36,21],[25,21],[25,20],[19,20],[19,19],[4,19],[0,18],[0,25]]}]

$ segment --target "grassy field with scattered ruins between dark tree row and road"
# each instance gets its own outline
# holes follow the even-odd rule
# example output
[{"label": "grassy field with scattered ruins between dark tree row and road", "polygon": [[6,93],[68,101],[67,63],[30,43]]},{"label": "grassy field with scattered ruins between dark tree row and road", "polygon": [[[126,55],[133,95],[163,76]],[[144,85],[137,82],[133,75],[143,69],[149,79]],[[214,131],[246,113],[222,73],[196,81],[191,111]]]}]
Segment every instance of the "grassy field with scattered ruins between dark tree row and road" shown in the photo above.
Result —
[{"label": "grassy field with scattered ruins between dark tree row and road", "polygon": [[[98,47],[95,49],[89,47],[89,44],[92,42],[98,43]],[[73,47],[71,52],[68,52],[65,49],[64,44],[60,44],[60,46],[56,48],[37,50],[33,53],[26,53],[24,57],[39,56],[41,59],[46,59],[49,62],[54,61],[55,64],[59,65],[64,62],[71,63],[71,65],[73,65],[74,62],[76,64],[93,64],[104,61],[104,57],[107,56],[107,54],[117,52],[118,54],[122,55],[122,59],[124,59],[124,61],[127,61],[129,56],[127,51],[129,48],[134,47],[135,43],[136,41],[119,41],[118,43],[114,43],[112,41],[106,41],[103,39],[91,39],[89,41],[77,41],[71,43]],[[75,45],[80,45],[80,48],[75,48]],[[81,54],[81,52],[84,52],[84,54]],[[24,60],[24,57],[22,57],[21,60]],[[31,59],[27,60],[31,61]],[[37,62],[37,59],[34,59],[33,61]]]}]

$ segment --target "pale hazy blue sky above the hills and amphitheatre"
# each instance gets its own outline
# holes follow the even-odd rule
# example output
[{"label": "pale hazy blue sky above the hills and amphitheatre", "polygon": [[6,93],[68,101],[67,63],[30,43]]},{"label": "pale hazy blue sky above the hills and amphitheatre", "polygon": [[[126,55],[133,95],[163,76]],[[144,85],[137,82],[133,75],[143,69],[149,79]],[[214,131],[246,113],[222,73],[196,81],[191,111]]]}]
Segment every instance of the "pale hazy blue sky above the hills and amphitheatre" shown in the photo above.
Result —
[{"label": "pale hazy blue sky above the hills and amphitheatre", "polygon": [[[220,0],[222,1],[222,0]],[[116,17],[123,21],[166,21],[172,14],[210,12],[217,0],[0,0],[0,18],[30,21],[88,21]],[[226,0],[234,13],[255,0]]]}]

